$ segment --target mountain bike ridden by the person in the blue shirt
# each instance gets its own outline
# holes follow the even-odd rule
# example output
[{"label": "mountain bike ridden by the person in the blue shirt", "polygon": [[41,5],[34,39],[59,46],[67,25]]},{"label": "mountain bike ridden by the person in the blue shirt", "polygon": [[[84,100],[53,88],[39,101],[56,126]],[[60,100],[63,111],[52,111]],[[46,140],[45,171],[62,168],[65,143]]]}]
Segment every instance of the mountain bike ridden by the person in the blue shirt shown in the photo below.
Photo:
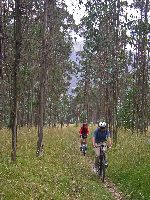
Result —
[{"label": "mountain bike ridden by the person in the blue shirt", "polygon": [[100,147],[100,155],[98,157],[98,163],[97,163],[97,172],[98,175],[100,176],[102,182],[105,181],[105,171],[106,171],[106,154],[105,151],[107,149],[106,143],[102,143],[96,148]]}]

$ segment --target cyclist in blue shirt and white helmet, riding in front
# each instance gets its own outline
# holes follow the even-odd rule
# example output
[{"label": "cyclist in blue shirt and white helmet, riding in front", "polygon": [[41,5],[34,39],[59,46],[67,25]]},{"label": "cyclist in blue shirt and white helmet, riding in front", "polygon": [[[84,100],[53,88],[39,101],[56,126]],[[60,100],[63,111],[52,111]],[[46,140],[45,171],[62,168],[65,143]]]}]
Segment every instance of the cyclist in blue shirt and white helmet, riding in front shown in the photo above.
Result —
[{"label": "cyclist in blue shirt and white helmet, riding in front", "polygon": [[[98,157],[100,155],[100,147],[97,147],[100,145],[102,142],[107,142],[108,147],[111,147],[112,142],[111,142],[111,134],[106,128],[106,122],[99,122],[98,127],[93,133],[93,147],[95,151],[95,164],[94,168],[96,169],[97,167],[97,162],[98,162]],[[106,161],[105,165],[108,165],[108,162]]]}]

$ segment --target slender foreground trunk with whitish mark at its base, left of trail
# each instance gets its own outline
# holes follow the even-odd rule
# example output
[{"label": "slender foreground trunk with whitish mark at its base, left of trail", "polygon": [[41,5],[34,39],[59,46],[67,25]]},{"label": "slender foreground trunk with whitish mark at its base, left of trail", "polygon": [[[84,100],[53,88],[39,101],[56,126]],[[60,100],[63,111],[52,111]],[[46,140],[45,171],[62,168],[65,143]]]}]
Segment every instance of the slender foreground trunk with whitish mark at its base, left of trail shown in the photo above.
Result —
[{"label": "slender foreground trunk with whitish mark at its base, left of trail", "polygon": [[51,6],[53,7],[54,1],[44,1],[44,13],[42,19],[42,46],[41,46],[41,63],[39,73],[39,94],[38,94],[38,140],[37,140],[37,151],[38,156],[41,155],[43,150],[43,121],[44,121],[44,97],[45,97],[45,81],[47,75],[47,30],[48,30],[48,12]]}]

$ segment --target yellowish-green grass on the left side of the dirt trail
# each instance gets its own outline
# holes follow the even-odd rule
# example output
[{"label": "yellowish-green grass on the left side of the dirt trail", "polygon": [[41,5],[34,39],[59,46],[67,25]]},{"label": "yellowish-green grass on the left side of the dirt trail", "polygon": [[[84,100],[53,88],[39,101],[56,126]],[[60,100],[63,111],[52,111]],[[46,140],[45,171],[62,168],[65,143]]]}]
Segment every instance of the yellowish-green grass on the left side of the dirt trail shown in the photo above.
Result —
[{"label": "yellowish-green grass on the left side of the dirt trail", "polygon": [[111,194],[79,154],[76,128],[44,130],[44,156],[36,157],[37,130],[18,132],[17,162],[10,160],[11,133],[0,130],[1,200],[111,200]]}]

